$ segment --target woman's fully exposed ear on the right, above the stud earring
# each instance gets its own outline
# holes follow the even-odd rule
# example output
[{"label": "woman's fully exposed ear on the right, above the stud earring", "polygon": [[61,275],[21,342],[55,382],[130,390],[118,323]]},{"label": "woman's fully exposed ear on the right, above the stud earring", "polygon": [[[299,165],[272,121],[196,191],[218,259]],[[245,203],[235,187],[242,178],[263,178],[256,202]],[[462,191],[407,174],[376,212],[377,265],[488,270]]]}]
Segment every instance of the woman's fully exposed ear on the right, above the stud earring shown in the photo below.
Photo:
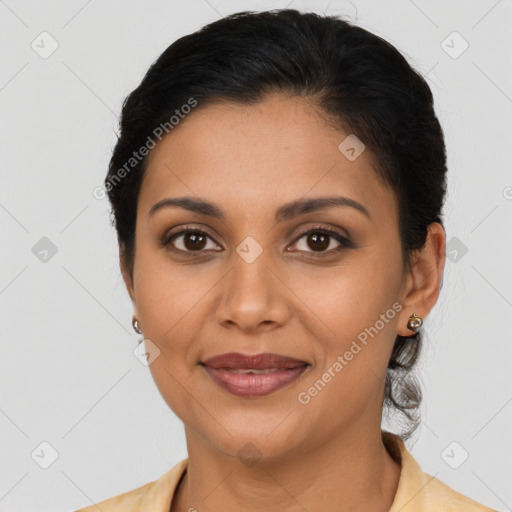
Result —
[{"label": "woman's fully exposed ear on the right, above the stud earring", "polygon": [[425,246],[415,251],[413,263],[402,292],[403,309],[398,317],[400,336],[411,336],[414,331],[407,327],[409,317],[416,313],[425,318],[435,306],[441,290],[446,260],[446,235],[439,222],[428,227]]}]

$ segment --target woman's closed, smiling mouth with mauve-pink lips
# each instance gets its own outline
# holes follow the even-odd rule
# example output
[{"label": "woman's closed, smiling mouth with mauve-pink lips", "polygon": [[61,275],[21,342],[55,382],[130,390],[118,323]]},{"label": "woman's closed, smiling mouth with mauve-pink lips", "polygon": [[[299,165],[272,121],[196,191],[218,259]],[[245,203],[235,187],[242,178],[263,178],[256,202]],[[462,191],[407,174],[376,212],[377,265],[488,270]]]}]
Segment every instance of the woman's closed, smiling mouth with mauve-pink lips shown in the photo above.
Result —
[{"label": "woman's closed, smiling mouth with mauve-pink lips", "polygon": [[269,395],[296,381],[310,366],[279,354],[221,354],[200,363],[222,389],[241,397]]}]

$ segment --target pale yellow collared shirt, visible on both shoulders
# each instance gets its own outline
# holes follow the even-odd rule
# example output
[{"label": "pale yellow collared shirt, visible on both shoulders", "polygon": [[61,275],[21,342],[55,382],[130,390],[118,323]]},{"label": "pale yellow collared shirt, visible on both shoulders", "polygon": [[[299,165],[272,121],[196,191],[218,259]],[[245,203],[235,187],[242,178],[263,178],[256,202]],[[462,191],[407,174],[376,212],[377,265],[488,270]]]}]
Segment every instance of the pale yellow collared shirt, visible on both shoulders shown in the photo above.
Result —
[{"label": "pale yellow collared shirt, visible on both shoulders", "polygon": [[[382,439],[401,465],[398,488],[389,512],[497,512],[424,473],[395,434],[382,431]],[[75,512],[169,512],[174,491],[187,464],[188,458],[183,459],[154,482]]]}]

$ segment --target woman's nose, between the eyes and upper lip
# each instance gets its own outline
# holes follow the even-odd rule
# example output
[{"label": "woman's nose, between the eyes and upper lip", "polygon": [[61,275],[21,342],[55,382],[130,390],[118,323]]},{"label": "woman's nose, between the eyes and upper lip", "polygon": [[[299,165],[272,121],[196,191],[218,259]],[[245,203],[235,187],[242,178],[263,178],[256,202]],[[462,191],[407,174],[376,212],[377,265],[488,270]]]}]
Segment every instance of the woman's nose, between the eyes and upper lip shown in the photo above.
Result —
[{"label": "woman's nose, between the eyes and upper lip", "polygon": [[254,333],[281,327],[289,320],[291,292],[287,279],[267,254],[268,250],[263,250],[252,262],[233,254],[231,270],[219,283],[217,322]]}]

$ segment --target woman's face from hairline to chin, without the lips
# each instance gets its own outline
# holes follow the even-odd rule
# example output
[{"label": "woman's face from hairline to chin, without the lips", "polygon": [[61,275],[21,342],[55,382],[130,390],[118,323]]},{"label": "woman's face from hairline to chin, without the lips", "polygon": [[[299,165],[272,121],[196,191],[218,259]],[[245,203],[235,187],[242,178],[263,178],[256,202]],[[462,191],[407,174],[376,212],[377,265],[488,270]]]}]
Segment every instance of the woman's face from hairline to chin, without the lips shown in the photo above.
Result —
[{"label": "woman's face from hairline to chin, without the lips", "polygon": [[[158,389],[187,437],[220,453],[250,442],[283,457],[380,426],[409,281],[396,197],[369,150],[354,159],[359,148],[339,149],[347,135],[304,98],[273,95],[193,111],[149,156],[133,281],[123,275],[160,350],[150,365]],[[151,212],[183,197],[213,208]],[[326,197],[350,201],[286,207]],[[306,366],[272,392],[241,396],[201,364],[232,352]]]}]

